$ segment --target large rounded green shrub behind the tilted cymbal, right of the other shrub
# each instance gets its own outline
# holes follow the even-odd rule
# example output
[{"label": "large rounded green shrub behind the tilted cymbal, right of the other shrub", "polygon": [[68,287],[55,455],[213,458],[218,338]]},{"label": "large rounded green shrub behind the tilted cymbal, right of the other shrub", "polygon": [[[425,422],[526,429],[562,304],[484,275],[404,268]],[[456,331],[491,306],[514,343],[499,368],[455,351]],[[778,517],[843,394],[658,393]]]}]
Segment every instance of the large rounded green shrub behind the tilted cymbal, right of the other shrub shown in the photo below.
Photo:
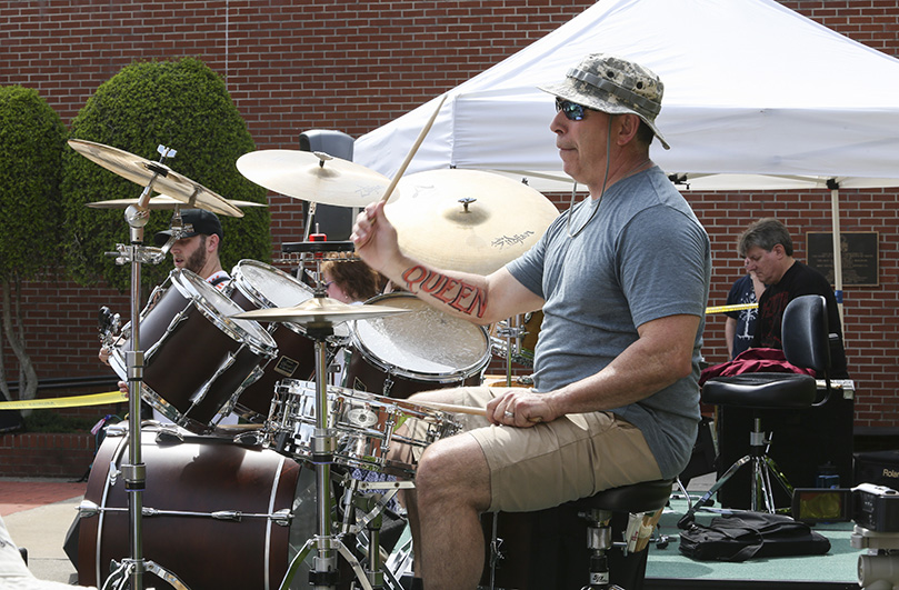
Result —
[{"label": "large rounded green shrub behind the tilted cymbal, right of the other shrub", "polygon": [[[254,144],[246,122],[226,89],[223,80],[193,58],[136,62],[97,89],[71,124],[71,138],[84,139],[124,150],[147,160],[159,160],[157,147],[177,150],[166,161],[179,174],[199,182],[227,199],[266,202],[266,189],[253,184],[234,162]],[[66,217],[66,263],[72,279],[94,284],[104,279],[127,291],[130,267],[117,266],[106,252],[129,242],[123,211],[92,209],[86,203],[110,199],[134,199],[142,187],[106,170],[71,148],[63,152],[62,202]],[[268,208],[244,209],[243,218],[219,216],[224,229],[222,267],[230,270],[238,260],[268,261],[271,253]],[[167,229],[171,211],[152,211],[144,228],[144,243]],[[142,286],[164,280],[171,258],[143,264]]]}]

